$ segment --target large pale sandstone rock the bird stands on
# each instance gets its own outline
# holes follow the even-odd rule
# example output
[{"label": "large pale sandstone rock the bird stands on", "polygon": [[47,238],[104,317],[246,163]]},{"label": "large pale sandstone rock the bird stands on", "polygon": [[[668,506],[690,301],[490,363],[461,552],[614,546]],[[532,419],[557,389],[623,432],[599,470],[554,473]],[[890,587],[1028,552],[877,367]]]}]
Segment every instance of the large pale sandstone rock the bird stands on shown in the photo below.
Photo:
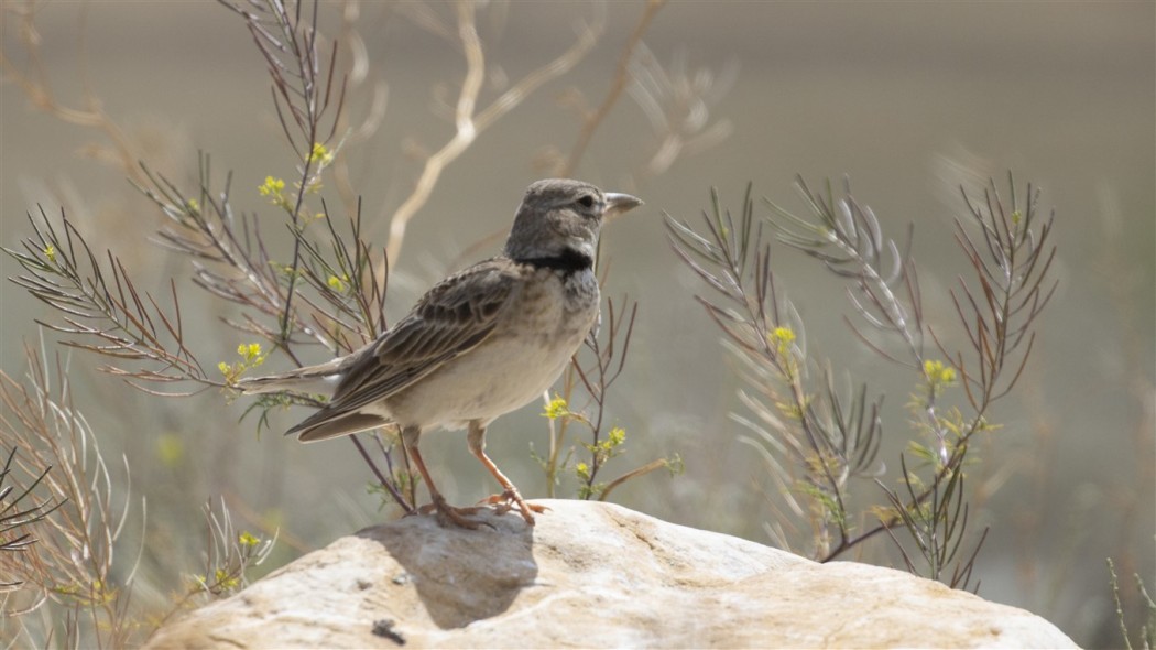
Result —
[{"label": "large pale sandstone rock the bird stands on", "polygon": [[406,517],[310,553],[148,648],[1074,648],[1047,621],[905,573],[818,564],[624,508],[528,527]]}]

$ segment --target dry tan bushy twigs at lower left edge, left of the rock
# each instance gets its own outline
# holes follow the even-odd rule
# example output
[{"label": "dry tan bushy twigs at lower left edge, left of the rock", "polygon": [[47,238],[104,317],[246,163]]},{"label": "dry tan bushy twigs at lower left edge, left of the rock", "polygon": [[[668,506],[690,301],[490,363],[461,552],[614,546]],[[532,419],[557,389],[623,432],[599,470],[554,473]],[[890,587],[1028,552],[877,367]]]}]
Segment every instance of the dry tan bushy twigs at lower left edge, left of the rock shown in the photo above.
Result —
[{"label": "dry tan bushy twigs at lower left edge, left of the rock", "polygon": [[0,433],[18,451],[17,472],[35,477],[37,468],[52,467],[35,494],[62,504],[40,523],[37,544],[0,554],[0,575],[23,583],[6,613],[51,603],[71,613],[68,621],[53,622],[55,643],[72,647],[82,633],[96,633],[110,647],[124,647],[135,630],[126,607],[139,562],[116,557],[132,504],[118,496],[131,493],[127,459],[125,485],[114,486],[88,421],[72,402],[64,362],[57,357],[50,367],[39,350],[25,353],[30,385],[0,372]]}]

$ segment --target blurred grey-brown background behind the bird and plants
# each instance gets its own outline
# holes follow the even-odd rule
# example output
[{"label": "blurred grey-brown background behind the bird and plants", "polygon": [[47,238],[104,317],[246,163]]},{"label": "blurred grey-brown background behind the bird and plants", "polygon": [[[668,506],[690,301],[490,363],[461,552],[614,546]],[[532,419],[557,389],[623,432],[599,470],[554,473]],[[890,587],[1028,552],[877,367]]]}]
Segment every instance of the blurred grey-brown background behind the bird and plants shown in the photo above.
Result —
[{"label": "blurred grey-brown background behind the bird and plants", "polygon": [[[605,21],[605,30],[570,72],[525,97],[444,170],[394,259],[392,318],[450,271],[497,250],[525,186],[571,155],[580,111],[610,91],[644,10],[643,2],[477,7],[488,64],[482,106],[558,57],[579,24]],[[339,67],[355,60],[355,42],[368,66],[350,77],[350,128],[365,126],[341,152],[348,177],[326,178],[323,194],[333,204],[342,192],[360,195],[368,237],[385,245],[388,216],[425,157],[453,134],[451,113],[438,109],[453,105],[465,71],[453,31],[438,34],[439,25],[452,29],[453,10],[334,2],[324,5],[320,25],[328,38],[347,36]],[[1156,584],[1154,34],[1151,2],[661,7],[636,51],[635,81],[572,172],[646,201],[613,223],[602,244],[606,295],[639,303],[625,370],[607,404],[608,422],[627,430],[627,453],[607,479],[658,457],[686,461],[683,475],[650,474],[612,500],[762,542],[777,508],[768,467],[739,443],[747,431],[729,418],[744,412],[736,396],[743,383],[694,300],[705,288],[667,244],[664,213],[699,220],[712,186],[738,209],[748,183],[756,197],[801,213],[796,173],[813,185],[847,175],[891,236],[914,224],[934,326],[954,319],[947,291],[969,269],[954,242],[953,219],[964,214],[959,186],[975,190],[994,176],[1006,192],[1010,170],[1018,190],[1032,183],[1043,191],[1040,207],[1055,210],[1060,283],[1016,391],[994,412],[1002,428],[978,451],[971,526],[991,526],[977,560],[979,593],[1047,618],[1082,645],[1120,645],[1105,557],[1117,562],[1129,612],[1132,573]],[[126,182],[124,163],[144,160],[191,191],[198,152],[208,153],[218,184],[232,170],[235,205],[279,231],[281,214],[257,187],[266,176],[291,178],[294,158],[243,20],[207,1],[6,0],[2,37],[0,244],[16,248],[30,234],[32,206],[50,214],[64,206],[96,248],[125,259],[142,288],[166,291],[176,276],[198,355],[209,365],[234,360],[244,337],[221,324],[222,311],[188,280],[187,260],[148,243],[162,217]],[[38,44],[35,57],[29,38]],[[15,73],[40,94],[30,95]],[[94,98],[103,111],[96,126],[45,110],[91,110]],[[756,205],[756,214],[768,210]],[[894,473],[911,435],[910,372],[858,344],[843,323],[852,310],[842,285],[820,265],[786,248],[772,260],[806,323],[809,355],[888,396],[881,459]],[[21,272],[7,256],[0,271]],[[42,335],[35,319],[59,315],[0,285],[9,376],[23,376],[23,346]],[[325,357],[316,354],[307,361]],[[172,557],[195,555],[199,511],[210,498],[223,497],[242,527],[280,529],[273,567],[395,515],[366,492],[371,475],[351,445],[303,446],[277,435],[304,409],[276,413],[273,431],[258,436],[254,419],[238,423],[244,399],[212,391],[155,398],[95,371],[101,362],[72,354],[76,406],[106,456],[126,455],[132,494],[148,497],[147,564],[180,570]],[[262,370],[289,367],[272,357]],[[491,456],[527,496],[546,492],[529,453],[531,444],[547,444],[540,413],[528,406],[489,436]],[[452,502],[494,490],[462,435],[428,436],[422,449]],[[870,483],[855,492],[882,503]],[[562,494],[573,495],[572,481]],[[902,568],[890,544],[880,537],[846,559]]]}]

